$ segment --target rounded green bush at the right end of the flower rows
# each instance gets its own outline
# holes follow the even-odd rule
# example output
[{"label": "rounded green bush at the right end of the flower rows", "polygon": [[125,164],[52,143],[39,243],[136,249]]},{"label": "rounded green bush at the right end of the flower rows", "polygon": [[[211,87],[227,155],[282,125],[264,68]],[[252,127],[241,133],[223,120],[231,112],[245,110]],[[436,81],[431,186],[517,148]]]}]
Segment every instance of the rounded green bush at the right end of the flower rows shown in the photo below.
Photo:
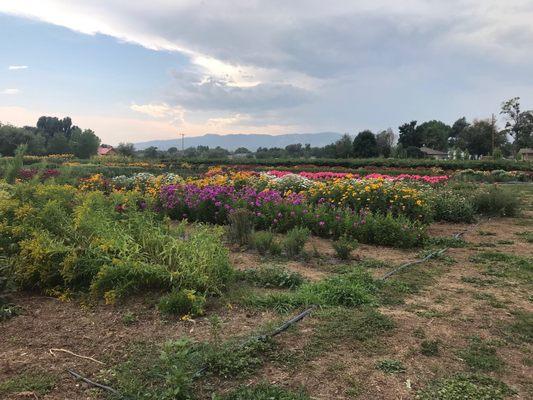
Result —
[{"label": "rounded green bush at the right end of the flower rows", "polygon": [[497,186],[480,190],[474,196],[473,203],[478,213],[488,216],[514,217],[520,212],[519,197]]}]

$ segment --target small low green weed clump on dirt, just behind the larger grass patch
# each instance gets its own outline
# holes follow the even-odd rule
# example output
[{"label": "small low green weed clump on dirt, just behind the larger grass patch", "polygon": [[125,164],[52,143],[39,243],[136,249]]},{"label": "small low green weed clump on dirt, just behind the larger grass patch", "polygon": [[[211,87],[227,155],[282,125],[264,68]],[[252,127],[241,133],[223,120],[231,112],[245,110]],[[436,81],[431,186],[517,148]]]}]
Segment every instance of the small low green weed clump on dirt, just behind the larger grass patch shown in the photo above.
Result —
[{"label": "small low green weed clump on dirt, just behind the larger grass patch", "polygon": [[242,271],[241,276],[245,281],[265,288],[294,289],[304,282],[299,273],[277,265],[249,268]]}]

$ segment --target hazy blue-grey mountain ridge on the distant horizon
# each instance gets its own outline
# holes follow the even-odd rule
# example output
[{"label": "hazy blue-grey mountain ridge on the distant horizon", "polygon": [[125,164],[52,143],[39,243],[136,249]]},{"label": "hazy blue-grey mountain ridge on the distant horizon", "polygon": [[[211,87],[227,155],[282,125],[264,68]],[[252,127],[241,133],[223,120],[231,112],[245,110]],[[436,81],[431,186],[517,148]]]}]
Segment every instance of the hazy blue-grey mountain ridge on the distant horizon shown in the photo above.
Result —
[{"label": "hazy blue-grey mountain ridge on the distant horizon", "polygon": [[[185,137],[185,148],[196,146],[209,146],[214,148],[220,146],[233,151],[239,147],[246,147],[255,151],[258,147],[285,147],[289,144],[309,143],[312,147],[322,147],[333,143],[342,135],[336,132],[320,133],[291,133],[286,135],[267,134],[230,134],[218,135],[209,133],[203,136]],[[170,147],[181,149],[181,139],[150,140],[148,142],[135,143],[137,150],[144,150],[147,147],[155,146],[159,150],[168,150]]]}]

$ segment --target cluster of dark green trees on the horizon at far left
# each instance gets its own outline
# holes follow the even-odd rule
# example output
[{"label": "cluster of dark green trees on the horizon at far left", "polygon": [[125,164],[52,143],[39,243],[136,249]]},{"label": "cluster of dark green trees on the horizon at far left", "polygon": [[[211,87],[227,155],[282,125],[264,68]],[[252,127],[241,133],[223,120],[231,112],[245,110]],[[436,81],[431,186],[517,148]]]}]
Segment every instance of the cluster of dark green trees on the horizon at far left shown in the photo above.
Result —
[{"label": "cluster of dark green trees on the horizon at far left", "polygon": [[0,155],[13,156],[17,147],[26,145],[26,154],[74,154],[90,158],[100,146],[100,138],[91,129],[82,130],[69,117],[42,116],[35,126],[16,127],[0,123]]}]

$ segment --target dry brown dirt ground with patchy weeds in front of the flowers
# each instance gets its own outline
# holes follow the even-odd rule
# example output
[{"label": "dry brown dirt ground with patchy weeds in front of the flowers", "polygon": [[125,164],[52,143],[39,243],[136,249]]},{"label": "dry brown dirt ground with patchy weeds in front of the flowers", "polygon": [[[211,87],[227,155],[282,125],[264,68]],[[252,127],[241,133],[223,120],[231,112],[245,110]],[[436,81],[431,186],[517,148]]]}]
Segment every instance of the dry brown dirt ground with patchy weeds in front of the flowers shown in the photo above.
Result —
[{"label": "dry brown dirt ground with patchy weeds in front of the flowers", "polygon": [[[327,351],[302,356],[313,350],[309,349],[311,338],[319,328],[320,319],[311,315],[276,339],[279,354],[285,358],[268,360],[251,378],[240,383],[266,380],[291,388],[303,386],[312,399],[412,399],[418,389],[432,380],[468,371],[460,350],[476,336],[496,343],[496,355],[503,362],[500,369],[486,374],[514,389],[516,394],[510,398],[533,398],[531,341],[514,340],[506,330],[515,321],[517,311],[533,312],[531,276],[526,280],[488,276],[483,266],[472,260],[476,254],[497,251],[531,261],[533,245],[518,234],[531,231],[533,219],[531,215],[496,218],[475,227],[435,224],[430,232],[433,236],[448,236],[468,228],[464,235],[467,247],[449,249],[445,257],[417,267],[435,272],[421,291],[406,296],[401,304],[379,307],[396,327],[376,338],[371,346],[341,341]],[[341,264],[326,240],[313,238],[308,252],[319,257],[301,262],[272,261],[256,253],[232,251],[231,258],[239,269],[274,262],[311,281],[332,274]],[[381,268],[371,270],[379,277],[419,256],[418,251],[362,245],[353,252],[352,262],[368,258],[385,261]],[[162,319],[149,297],[115,306],[64,302],[31,294],[17,294],[13,300],[24,312],[0,322],[0,382],[38,372],[48,376],[51,383],[44,394],[21,390],[6,395],[9,399],[106,398],[98,389],[72,379],[66,370],[98,377],[101,369],[127,360],[132,343],[163,343],[184,336],[206,340],[210,335],[207,318],[193,322]],[[222,332],[227,337],[253,332],[258,326],[281,318],[274,312],[231,304],[219,304],[208,312],[220,316]],[[531,339],[532,327],[526,329]],[[424,341],[436,341],[438,354],[421,354]],[[66,349],[103,364],[50,349]],[[391,374],[377,369],[376,363],[383,359],[400,361],[405,371]],[[222,381],[219,389],[234,385]]]}]

